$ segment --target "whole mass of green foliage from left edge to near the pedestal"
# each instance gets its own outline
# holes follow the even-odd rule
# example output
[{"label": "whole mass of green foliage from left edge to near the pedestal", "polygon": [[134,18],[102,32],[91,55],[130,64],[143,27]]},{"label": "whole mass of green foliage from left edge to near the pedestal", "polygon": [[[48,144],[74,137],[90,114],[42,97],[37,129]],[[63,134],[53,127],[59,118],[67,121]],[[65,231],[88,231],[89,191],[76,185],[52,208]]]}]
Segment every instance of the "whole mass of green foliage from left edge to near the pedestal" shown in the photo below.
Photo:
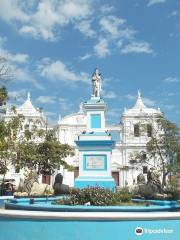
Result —
[{"label": "whole mass of green foliage from left edge to near the pedestal", "polygon": [[[33,169],[38,174],[53,174],[60,166],[72,170],[65,158],[74,154],[68,144],[61,144],[51,131],[34,128],[21,133],[24,117],[0,121],[0,173],[6,174],[8,164],[16,169]],[[34,141],[40,137],[41,141]]]}]

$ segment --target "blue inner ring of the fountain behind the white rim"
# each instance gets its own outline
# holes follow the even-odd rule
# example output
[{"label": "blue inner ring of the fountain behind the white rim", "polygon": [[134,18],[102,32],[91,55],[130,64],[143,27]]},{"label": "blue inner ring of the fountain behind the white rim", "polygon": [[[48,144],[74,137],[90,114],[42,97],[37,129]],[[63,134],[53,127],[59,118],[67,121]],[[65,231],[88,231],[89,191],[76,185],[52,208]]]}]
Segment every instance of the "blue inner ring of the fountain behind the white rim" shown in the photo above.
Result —
[{"label": "blue inner ring of the fountain behind the white rim", "polygon": [[[29,211],[52,211],[52,212],[159,212],[180,210],[180,204],[176,201],[146,200],[147,206],[69,206],[53,205],[51,202],[58,198],[33,198],[11,199],[5,203],[6,209],[29,210]],[[134,199],[136,203],[144,200]]]}]

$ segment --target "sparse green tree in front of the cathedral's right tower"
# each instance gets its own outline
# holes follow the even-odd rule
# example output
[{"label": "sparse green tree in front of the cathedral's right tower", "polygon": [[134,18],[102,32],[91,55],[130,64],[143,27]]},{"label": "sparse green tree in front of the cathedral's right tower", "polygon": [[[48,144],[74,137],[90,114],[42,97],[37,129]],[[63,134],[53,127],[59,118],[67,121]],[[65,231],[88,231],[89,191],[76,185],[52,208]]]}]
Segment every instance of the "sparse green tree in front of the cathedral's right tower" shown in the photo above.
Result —
[{"label": "sparse green tree in front of the cathedral's right tower", "polygon": [[[177,174],[180,170],[180,129],[163,116],[156,120],[156,127],[153,128],[152,136],[146,144],[146,149],[133,153],[130,156],[130,163],[136,166],[156,166],[162,174],[162,189],[166,185],[166,178],[169,174]],[[155,164],[151,164],[152,161]]]}]

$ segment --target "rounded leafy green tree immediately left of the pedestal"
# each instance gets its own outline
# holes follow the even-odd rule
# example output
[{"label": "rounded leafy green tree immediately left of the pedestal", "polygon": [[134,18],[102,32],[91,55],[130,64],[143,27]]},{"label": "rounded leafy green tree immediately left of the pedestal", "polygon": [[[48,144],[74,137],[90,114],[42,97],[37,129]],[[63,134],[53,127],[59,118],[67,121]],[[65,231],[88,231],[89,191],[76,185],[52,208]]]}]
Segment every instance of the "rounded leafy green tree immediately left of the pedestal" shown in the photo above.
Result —
[{"label": "rounded leafy green tree immediately left of the pedestal", "polygon": [[[30,135],[32,136],[32,132]],[[40,143],[30,140],[29,134],[24,141],[19,142],[16,148],[16,157],[13,164],[16,168],[28,168],[38,174],[52,175],[55,169],[63,166],[72,170],[73,167],[65,161],[67,156],[74,155],[74,149],[68,144],[61,144],[51,132]]]}]

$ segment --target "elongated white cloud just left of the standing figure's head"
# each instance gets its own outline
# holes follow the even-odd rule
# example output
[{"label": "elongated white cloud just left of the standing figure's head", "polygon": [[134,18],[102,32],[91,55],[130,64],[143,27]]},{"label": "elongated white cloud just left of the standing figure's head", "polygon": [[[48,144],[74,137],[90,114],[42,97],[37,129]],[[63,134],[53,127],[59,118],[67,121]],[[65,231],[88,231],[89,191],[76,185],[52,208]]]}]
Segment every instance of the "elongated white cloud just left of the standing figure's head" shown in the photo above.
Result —
[{"label": "elongated white cloud just left of the standing figure's head", "polygon": [[84,82],[90,83],[88,74],[85,72],[76,73],[69,69],[62,61],[51,61],[46,58],[38,65],[38,70],[42,77],[46,77],[49,80],[69,82]]}]

